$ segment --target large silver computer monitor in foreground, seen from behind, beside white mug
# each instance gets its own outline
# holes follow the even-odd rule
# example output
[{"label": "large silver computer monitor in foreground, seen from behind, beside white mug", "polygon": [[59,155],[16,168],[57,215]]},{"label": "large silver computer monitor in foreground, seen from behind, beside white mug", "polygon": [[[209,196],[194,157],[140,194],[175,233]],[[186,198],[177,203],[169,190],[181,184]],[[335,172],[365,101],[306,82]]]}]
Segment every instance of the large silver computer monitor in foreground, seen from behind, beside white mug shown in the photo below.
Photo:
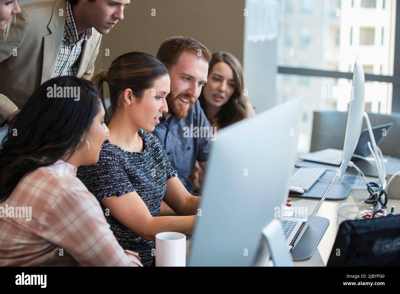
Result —
[{"label": "large silver computer monitor in foreground, seen from behind, beside white mug", "polygon": [[[189,266],[254,265],[262,230],[288,197],[301,113],[302,99],[296,98],[218,131]],[[278,224],[279,234],[272,242],[281,242],[282,254],[289,256]]]}]

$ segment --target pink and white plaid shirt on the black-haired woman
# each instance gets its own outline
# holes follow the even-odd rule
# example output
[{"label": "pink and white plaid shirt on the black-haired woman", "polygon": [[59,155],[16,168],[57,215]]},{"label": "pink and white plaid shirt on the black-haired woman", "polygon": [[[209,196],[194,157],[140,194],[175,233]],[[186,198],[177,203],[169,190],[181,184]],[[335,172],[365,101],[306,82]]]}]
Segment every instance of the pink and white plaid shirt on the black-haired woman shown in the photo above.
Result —
[{"label": "pink and white plaid shirt on the black-haired woman", "polygon": [[[31,207],[31,220],[5,215],[7,206]],[[141,266],[67,162],[26,174],[1,209],[0,266]]]}]

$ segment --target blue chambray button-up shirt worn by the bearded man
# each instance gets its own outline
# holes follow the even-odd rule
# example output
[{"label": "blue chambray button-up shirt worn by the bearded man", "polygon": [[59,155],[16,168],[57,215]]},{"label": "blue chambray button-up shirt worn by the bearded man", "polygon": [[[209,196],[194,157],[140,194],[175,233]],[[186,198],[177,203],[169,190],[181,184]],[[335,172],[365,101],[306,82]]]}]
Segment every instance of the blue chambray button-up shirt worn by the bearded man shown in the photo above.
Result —
[{"label": "blue chambray button-up shirt worn by the bearded man", "polygon": [[[160,124],[152,132],[160,140],[168,159],[178,172],[178,178],[190,193],[193,192],[193,187],[189,175],[196,164],[196,160],[199,162],[208,160],[211,143],[210,136],[200,137],[204,134],[203,132],[197,133],[200,136],[193,132],[196,136],[192,136],[190,130],[193,130],[193,128],[196,130],[195,127],[206,127],[211,132],[210,124],[198,100],[190,108],[188,115],[181,120],[170,117],[167,122],[165,116],[162,116]],[[187,137],[188,134],[190,134],[189,137]]]}]

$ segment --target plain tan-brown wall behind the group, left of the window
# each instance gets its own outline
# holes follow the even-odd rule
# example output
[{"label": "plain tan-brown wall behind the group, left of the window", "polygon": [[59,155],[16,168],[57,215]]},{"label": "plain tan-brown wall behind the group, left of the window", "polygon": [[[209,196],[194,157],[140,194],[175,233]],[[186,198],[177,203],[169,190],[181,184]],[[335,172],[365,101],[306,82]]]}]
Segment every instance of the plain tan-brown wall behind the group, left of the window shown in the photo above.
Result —
[{"label": "plain tan-brown wall behind the group, left of the window", "polygon": [[[228,51],[243,60],[244,0],[132,0],[124,19],[103,35],[95,73],[130,51],[156,55],[170,36],[189,36],[211,52]],[[156,16],[151,16],[152,8]],[[105,50],[110,49],[110,56]]]}]

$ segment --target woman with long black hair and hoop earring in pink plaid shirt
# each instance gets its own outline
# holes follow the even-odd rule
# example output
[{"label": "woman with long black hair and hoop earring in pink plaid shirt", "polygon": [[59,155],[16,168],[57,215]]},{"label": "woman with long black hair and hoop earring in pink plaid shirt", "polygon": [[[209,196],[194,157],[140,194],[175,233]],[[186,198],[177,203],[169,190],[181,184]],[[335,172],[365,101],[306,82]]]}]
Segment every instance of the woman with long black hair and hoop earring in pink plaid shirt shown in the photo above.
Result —
[{"label": "woman with long black hair and hoop earring in pink plaid shirt", "polygon": [[107,127],[97,88],[65,76],[42,84],[0,149],[0,266],[134,266],[78,166],[98,162]]}]

